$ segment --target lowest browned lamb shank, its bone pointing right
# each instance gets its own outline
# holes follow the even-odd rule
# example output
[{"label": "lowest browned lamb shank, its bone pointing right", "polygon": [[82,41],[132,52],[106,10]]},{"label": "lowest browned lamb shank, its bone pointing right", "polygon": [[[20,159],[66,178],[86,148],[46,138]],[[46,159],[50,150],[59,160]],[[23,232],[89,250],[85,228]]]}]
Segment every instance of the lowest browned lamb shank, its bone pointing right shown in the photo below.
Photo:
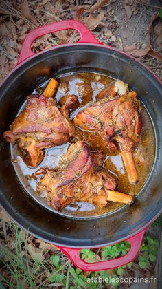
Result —
[{"label": "lowest browned lamb shank, its bone pointing right", "polygon": [[109,198],[113,201],[113,195],[115,202],[119,196],[118,202],[132,204],[130,195],[113,191],[117,184],[115,178],[98,168],[104,157],[101,151],[90,154],[83,141],[71,144],[60,159],[58,171],[48,171],[38,182],[37,189],[45,193],[49,205],[58,211],[77,201],[106,206]]}]

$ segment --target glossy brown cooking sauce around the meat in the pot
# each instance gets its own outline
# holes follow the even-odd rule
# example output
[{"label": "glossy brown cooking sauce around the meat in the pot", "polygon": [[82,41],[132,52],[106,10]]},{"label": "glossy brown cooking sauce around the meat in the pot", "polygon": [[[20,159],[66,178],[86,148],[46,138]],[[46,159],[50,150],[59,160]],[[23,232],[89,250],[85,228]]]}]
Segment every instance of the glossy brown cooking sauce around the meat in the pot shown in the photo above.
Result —
[{"label": "glossy brown cooking sauce around the meat in the pot", "polygon": [[[60,88],[56,94],[57,101],[67,92],[69,94],[78,95],[78,100],[80,104],[78,105],[76,111],[71,112],[71,118],[73,118],[73,116],[77,114],[78,109],[89,103],[89,101],[95,100],[95,96],[98,94],[98,92],[100,92],[104,88],[104,85],[111,83],[113,79],[101,74],[86,72],[80,74],[75,73],[71,75],[65,75],[58,78],[58,81],[60,82]],[[89,94],[86,96],[82,96],[82,86],[79,86],[78,89],[77,83],[86,83],[85,92],[88,92]],[[47,82],[43,83],[43,85],[41,85],[34,92],[43,92],[46,84]],[[51,149],[46,149],[43,162],[34,169],[26,166],[21,156],[19,156],[16,145],[14,145],[12,147],[12,162],[16,171],[16,175],[18,176],[23,187],[25,187],[25,190],[28,191],[30,195],[33,195],[35,198],[39,198],[40,202],[46,204],[45,197],[43,195],[39,196],[38,193],[36,193],[36,182],[38,182],[41,175],[45,173],[46,167],[54,169],[58,166],[58,160],[63,154],[66,153],[70,141],[73,142],[75,139],[83,139],[89,144],[91,151],[102,149],[106,153],[106,159],[104,161],[103,167],[105,169],[108,169],[108,171],[110,171],[113,175],[117,176],[118,182],[116,190],[121,191],[122,193],[137,195],[137,193],[143,186],[143,183],[146,181],[148,173],[152,167],[155,150],[154,130],[152,127],[152,122],[150,120],[148,112],[143,107],[143,105],[141,111],[141,118],[143,123],[141,140],[139,143],[139,147],[134,152],[137,172],[139,175],[139,182],[136,185],[130,184],[128,180],[128,175],[126,173],[126,170],[124,169],[124,163],[122,161],[119,150],[115,153],[108,151],[103,146],[102,139],[97,135],[97,133],[82,131],[78,128],[76,129],[75,138],[69,140],[67,144],[56,146]],[[86,217],[91,215],[102,215],[104,213],[114,211],[120,206],[122,206],[122,204],[109,202],[106,208],[95,208],[93,204],[77,202],[77,204],[73,204],[64,208],[62,213]]]}]

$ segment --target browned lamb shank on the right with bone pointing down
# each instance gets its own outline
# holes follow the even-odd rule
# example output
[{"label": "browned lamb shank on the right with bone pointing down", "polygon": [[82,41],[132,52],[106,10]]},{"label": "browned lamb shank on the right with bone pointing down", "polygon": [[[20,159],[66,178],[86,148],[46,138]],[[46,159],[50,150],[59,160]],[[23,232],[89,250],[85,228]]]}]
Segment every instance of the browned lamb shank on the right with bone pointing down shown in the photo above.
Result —
[{"label": "browned lamb shank on the right with bone pointing down", "polygon": [[119,143],[132,183],[138,180],[132,151],[137,147],[141,133],[140,111],[137,93],[132,91],[122,96],[118,94],[111,100],[110,95],[97,100],[79,111],[73,119],[81,129],[97,131],[111,151],[117,149],[114,140]]}]

